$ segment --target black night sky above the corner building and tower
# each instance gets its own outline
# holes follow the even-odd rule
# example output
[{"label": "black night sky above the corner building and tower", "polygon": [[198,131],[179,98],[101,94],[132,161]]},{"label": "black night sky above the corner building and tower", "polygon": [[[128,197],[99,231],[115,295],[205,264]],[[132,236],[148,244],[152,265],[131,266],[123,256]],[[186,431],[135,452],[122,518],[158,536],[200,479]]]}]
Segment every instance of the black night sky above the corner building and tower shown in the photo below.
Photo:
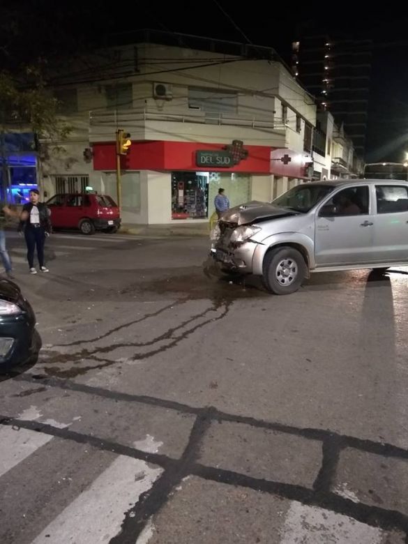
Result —
[{"label": "black night sky above the corner building and tower", "polygon": [[[4,0],[3,0],[4,1]],[[372,3],[373,5],[373,3]],[[20,52],[75,50],[109,33],[151,28],[274,47],[287,59],[298,31],[372,38],[372,79],[366,160],[405,160],[408,152],[408,12],[393,1],[266,3],[252,0],[102,1],[20,0],[7,7],[26,39]],[[3,20],[8,24],[7,17]],[[0,23],[1,29],[1,23]],[[30,47],[27,48],[27,44]],[[55,44],[58,45],[55,45]],[[0,45],[2,45],[0,43]],[[43,47],[44,48],[44,47]]]}]

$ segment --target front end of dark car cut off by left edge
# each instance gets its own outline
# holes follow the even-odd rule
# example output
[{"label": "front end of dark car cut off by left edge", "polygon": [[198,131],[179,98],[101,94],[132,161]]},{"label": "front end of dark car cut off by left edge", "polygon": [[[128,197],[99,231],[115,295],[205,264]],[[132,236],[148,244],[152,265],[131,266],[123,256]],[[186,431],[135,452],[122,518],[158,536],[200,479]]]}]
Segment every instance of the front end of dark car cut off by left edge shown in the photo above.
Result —
[{"label": "front end of dark car cut off by left edge", "polygon": [[36,316],[20,287],[0,280],[0,373],[17,365],[33,363],[40,351]]}]

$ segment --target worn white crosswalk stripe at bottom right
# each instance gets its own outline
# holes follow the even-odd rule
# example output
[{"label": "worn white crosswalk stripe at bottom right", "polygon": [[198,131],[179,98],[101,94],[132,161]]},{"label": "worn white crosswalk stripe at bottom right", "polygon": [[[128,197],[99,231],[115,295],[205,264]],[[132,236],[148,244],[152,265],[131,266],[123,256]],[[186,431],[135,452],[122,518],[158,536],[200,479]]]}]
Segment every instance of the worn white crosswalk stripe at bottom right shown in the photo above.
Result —
[{"label": "worn white crosswalk stripe at bottom right", "polygon": [[324,508],[293,501],[280,544],[380,544],[383,531]]}]

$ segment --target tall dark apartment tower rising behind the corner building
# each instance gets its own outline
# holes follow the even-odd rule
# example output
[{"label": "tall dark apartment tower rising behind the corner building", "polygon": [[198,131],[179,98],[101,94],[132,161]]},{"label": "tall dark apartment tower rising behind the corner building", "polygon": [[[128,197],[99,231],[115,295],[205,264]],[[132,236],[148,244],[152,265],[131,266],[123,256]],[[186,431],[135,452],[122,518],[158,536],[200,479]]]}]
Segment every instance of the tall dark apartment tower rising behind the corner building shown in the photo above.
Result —
[{"label": "tall dark apartment tower rising behind the corner building", "polygon": [[292,43],[292,70],[322,110],[365,152],[372,41],[305,36]]}]

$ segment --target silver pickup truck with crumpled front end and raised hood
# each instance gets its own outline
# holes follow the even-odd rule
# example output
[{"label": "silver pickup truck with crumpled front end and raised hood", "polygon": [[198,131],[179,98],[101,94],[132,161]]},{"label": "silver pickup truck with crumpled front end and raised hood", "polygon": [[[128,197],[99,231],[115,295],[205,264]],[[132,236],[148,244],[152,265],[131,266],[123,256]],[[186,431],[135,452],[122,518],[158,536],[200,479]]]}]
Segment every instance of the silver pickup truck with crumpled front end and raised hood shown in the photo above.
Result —
[{"label": "silver pickup truck with crumpled front end and raised hood", "polygon": [[222,271],[262,276],[275,294],[293,293],[311,272],[407,266],[408,182],[304,183],[229,209],[211,239]]}]

